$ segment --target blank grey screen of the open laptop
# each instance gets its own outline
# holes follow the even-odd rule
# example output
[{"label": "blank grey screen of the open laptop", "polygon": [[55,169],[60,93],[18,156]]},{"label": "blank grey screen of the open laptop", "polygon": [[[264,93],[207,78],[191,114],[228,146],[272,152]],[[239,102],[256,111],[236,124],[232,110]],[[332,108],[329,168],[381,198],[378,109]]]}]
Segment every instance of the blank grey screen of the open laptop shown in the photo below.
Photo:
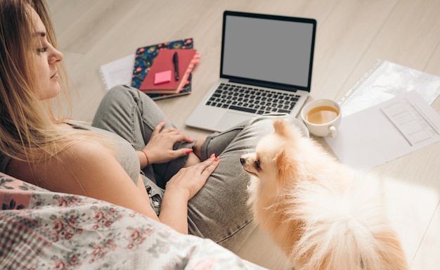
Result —
[{"label": "blank grey screen of the open laptop", "polygon": [[315,25],[226,15],[222,77],[309,89]]}]

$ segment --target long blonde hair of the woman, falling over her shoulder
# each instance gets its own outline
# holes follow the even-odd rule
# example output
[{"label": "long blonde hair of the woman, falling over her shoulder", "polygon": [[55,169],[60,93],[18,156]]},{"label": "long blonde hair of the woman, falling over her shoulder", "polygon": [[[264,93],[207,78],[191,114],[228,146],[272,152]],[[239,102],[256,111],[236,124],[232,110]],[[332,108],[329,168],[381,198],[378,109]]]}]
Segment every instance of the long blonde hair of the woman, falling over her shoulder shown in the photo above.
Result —
[{"label": "long blonde hair of the woman, falling over her shoulder", "polygon": [[[56,104],[63,105],[59,96],[39,100],[32,63],[35,25],[31,8],[45,25],[48,42],[57,48],[43,0],[0,0],[0,154],[30,164],[57,157],[73,143],[95,136],[60,127],[66,118],[58,116],[60,110],[56,110]],[[57,69],[63,96],[70,101],[62,62],[57,63]]]}]

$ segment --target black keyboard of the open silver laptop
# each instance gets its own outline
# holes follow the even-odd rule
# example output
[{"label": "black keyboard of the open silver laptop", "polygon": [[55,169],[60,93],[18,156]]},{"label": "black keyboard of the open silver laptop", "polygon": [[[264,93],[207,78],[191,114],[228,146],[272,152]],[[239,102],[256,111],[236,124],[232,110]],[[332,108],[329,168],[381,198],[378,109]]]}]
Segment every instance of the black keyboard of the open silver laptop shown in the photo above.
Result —
[{"label": "black keyboard of the open silver laptop", "polygon": [[258,115],[290,113],[299,97],[295,93],[280,93],[254,86],[222,83],[214,91],[206,105]]}]

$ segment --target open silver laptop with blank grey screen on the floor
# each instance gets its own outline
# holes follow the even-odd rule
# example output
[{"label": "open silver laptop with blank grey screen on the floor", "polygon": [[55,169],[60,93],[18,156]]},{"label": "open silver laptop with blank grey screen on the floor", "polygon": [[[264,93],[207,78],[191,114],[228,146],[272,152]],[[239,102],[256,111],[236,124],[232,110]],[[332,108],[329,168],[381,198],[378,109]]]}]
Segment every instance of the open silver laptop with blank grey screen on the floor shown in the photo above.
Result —
[{"label": "open silver laptop with blank grey screen on the floor", "polygon": [[224,131],[266,113],[296,117],[310,93],[315,34],[314,19],[224,11],[220,78],[186,125]]}]

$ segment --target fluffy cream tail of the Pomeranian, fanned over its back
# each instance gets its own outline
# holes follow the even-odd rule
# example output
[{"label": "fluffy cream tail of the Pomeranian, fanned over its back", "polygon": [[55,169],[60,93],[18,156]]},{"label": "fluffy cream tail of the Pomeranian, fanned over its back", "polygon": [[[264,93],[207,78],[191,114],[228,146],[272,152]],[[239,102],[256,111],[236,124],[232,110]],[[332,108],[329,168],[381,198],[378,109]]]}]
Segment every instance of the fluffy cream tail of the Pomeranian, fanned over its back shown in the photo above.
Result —
[{"label": "fluffy cream tail of the Pomeranian, fanned over its back", "polygon": [[383,207],[371,207],[376,198],[363,188],[341,194],[302,182],[295,189],[290,216],[304,221],[304,234],[292,256],[304,258],[303,269],[408,269]]}]

